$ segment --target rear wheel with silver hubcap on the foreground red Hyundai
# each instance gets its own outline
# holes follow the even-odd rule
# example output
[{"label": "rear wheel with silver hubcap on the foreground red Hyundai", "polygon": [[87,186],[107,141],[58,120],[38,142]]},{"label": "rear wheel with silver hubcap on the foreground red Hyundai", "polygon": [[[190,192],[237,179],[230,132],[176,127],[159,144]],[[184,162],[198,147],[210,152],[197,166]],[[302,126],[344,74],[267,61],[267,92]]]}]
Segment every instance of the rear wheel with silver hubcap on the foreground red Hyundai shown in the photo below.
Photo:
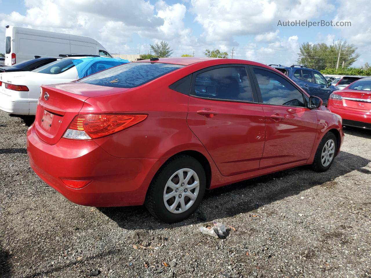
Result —
[{"label": "rear wheel with silver hubcap on the foreground red Hyundai", "polygon": [[183,221],[196,211],[205,188],[206,175],[201,163],[191,156],[177,155],[156,173],[144,204],[161,221]]}]

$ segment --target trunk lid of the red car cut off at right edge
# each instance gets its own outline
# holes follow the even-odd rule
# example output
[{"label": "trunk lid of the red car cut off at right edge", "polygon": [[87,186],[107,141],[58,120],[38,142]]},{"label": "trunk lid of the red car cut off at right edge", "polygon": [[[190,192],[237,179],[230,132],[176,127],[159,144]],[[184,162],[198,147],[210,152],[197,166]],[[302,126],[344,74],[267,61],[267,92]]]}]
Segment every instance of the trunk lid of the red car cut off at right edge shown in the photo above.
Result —
[{"label": "trunk lid of the red car cut off at right edge", "polygon": [[371,92],[363,90],[346,90],[337,94],[343,97],[342,106],[351,110],[371,110]]}]

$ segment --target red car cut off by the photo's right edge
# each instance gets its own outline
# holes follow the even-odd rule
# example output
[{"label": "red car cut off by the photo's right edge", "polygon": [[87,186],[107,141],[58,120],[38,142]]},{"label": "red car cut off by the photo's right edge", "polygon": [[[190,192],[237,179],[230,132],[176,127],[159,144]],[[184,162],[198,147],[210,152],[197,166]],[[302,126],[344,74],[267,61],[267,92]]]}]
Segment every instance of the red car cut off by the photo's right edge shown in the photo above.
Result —
[{"label": "red car cut off by the photo's right edge", "polygon": [[328,108],[341,116],[343,125],[371,129],[371,77],[332,93]]}]

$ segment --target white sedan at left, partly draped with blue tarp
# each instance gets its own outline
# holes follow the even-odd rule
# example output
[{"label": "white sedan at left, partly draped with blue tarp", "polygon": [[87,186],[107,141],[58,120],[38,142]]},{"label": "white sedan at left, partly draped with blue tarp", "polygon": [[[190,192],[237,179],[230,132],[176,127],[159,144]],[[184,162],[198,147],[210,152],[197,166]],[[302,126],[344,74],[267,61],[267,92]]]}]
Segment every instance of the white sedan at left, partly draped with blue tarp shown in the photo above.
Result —
[{"label": "white sedan at left, partly draped with blue tarp", "polygon": [[[81,72],[79,72],[79,76],[78,69],[76,69],[76,59],[88,60],[89,62],[88,70],[86,70],[87,66],[84,65],[83,76]],[[13,115],[36,115],[41,85],[70,82],[122,63],[112,58],[73,57],[60,59],[32,72],[1,73],[0,109]]]}]

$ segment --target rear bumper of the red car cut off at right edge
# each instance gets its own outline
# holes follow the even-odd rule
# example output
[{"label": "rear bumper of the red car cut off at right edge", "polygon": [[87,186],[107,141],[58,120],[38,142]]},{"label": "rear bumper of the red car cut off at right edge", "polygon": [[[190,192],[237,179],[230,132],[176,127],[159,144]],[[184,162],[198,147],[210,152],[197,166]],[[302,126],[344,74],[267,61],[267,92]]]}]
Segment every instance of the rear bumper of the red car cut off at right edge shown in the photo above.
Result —
[{"label": "rear bumper of the red car cut off at right edge", "polygon": [[337,108],[332,105],[329,107],[329,109],[331,112],[341,116],[343,125],[371,129],[371,111],[354,111]]}]

